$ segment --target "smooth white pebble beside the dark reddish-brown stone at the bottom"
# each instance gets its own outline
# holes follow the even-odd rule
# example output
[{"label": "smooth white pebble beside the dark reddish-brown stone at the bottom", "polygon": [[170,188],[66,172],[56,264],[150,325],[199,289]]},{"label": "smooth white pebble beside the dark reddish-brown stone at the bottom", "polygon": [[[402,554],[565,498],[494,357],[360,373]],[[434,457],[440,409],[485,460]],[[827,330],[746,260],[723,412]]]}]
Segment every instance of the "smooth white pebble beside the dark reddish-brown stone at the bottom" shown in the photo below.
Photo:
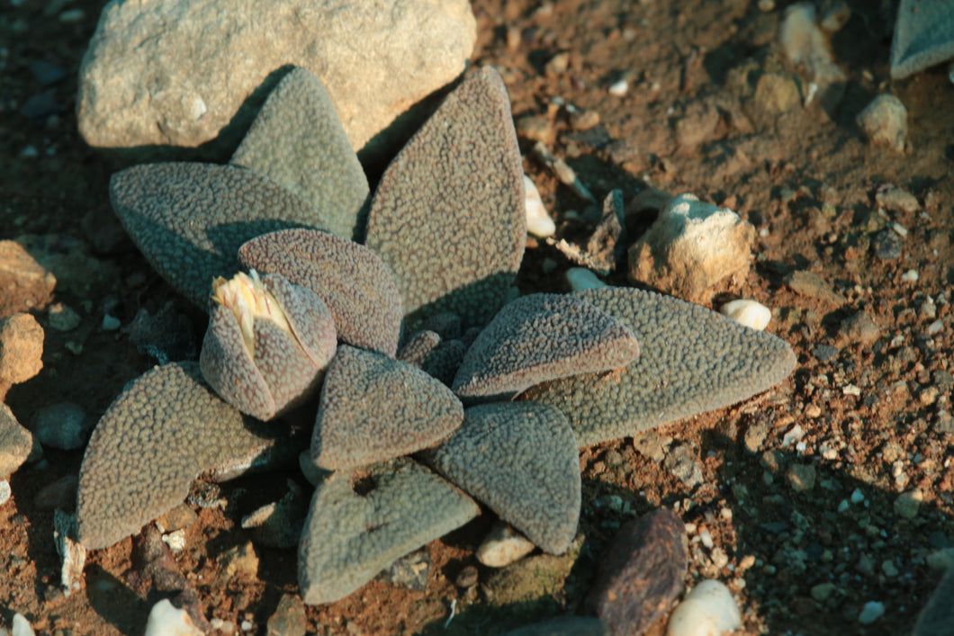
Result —
[{"label": "smooth white pebble beside the dark reddish-brown stone at the bottom", "polygon": [[686,594],[670,616],[668,636],[718,636],[742,626],[732,592],[718,581],[706,580]]}]

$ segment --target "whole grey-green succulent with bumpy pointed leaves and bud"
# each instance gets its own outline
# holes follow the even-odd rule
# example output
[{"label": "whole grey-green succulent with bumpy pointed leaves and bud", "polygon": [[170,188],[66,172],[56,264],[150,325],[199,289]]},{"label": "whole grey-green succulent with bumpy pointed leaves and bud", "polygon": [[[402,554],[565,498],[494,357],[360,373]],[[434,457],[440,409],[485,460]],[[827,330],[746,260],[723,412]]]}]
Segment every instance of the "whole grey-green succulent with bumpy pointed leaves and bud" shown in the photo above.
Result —
[{"label": "whole grey-green succulent with bumpy pointed leaves and bud", "polygon": [[[467,523],[471,497],[559,553],[579,518],[579,447],[791,373],[782,340],[674,298],[516,299],[523,188],[507,92],[489,68],[447,95],[370,202],[321,82],[303,70],[282,79],[230,165],[115,174],[121,222],[210,324],[204,380],[192,361],[156,368],[97,425],[79,541],[134,534],[200,473],[297,457],[301,440],[278,416],[317,396],[308,457],[335,472],[318,479],[301,535],[306,603],[338,600]],[[487,403],[464,408],[475,401]]]}]

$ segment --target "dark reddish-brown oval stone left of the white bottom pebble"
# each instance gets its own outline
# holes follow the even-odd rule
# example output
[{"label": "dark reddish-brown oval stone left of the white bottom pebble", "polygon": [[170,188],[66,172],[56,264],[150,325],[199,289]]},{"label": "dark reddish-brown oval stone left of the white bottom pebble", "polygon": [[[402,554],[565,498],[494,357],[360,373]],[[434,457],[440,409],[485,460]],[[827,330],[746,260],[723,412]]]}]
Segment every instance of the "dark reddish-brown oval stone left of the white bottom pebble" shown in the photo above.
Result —
[{"label": "dark reddish-brown oval stone left of the white bottom pebble", "polygon": [[612,541],[589,603],[611,634],[640,634],[682,593],[686,528],[660,508],[622,527]]}]

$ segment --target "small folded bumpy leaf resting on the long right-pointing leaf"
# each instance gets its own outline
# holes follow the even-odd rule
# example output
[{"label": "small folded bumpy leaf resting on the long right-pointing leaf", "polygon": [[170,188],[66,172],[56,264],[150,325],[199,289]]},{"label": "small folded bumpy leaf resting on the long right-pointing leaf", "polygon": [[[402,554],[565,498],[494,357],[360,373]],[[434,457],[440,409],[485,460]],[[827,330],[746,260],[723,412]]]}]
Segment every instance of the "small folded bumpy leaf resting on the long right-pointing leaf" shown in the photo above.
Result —
[{"label": "small folded bumpy leaf resting on the long right-pointing leaf", "polygon": [[533,384],[626,366],[633,333],[577,297],[531,294],[500,310],[474,340],[454,378],[462,398],[509,400]]}]

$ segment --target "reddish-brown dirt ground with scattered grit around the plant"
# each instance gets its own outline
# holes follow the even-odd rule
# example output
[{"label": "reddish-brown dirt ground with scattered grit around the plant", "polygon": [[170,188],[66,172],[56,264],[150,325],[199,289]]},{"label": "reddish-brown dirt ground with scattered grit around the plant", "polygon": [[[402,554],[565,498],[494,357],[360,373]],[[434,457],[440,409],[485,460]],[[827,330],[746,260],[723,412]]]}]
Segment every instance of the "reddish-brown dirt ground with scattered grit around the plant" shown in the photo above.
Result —
[{"label": "reddish-brown dirt ground with scattered grit around the plant", "polygon": [[[427,547],[433,566],[425,591],[372,582],[340,603],[308,607],[309,630],[491,634],[584,613],[594,568],[614,531],[663,505],[695,526],[687,583],[715,577],[729,585],[742,607],[742,633],[911,629],[940,579],[926,557],[954,541],[954,325],[946,303],[954,281],[954,86],[943,68],[891,81],[894,3],[858,0],[831,38],[847,76],[840,102],[773,112],[755,97],[760,74],[788,76],[802,92],[806,85],[776,51],[785,5],[764,12],[749,0],[475,0],[473,62],[500,69],[514,116],[538,116],[524,121],[524,130],[537,124],[595,195],[618,188],[629,201],[648,185],[692,192],[756,226],[751,273],[723,283],[706,304],[736,296],[771,307],[768,329],[792,345],[798,368],[755,400],[666,426],[647,440],[583,452],[586,543],[575,563],[558,564],[556,574],[517,590],[512,602],[488,598],[482,585],[493,582],[483,567],[475,591],[455,585],[460,571],[476,564],[473,550],[488,527],[481,519]],[[98,418],[128,380],[153,364],[124,332],[101,329],[104,314],[128,324],[140,308],[155,312],[173,300],[201,328],[201,317],[122,236],[107,199],[115,166],[76,133],[75,73],[100,9],[89,0],[22,0],[0,9],[0,238],[41,236],[48,253],[60,256],[55,300],[82,317],[72,332],[46,329],[43,371],[7,397],[28,426],[37,409],[64,400]],[[81,12],[59,19],[72,10]],[[560,53],[568,55],[553,61]],[[68,72],[48,95],[52,112],[33,119],[20,112],[44,91],[29,70],[32,61]],[[608,92],[618,79],[630,85],[621,97]],[[903,154],[869,147],[855,124],[884,92],[898,95],[909,111]],[[599,127],[573,130],[566,109],[554,106],[557,98],[598,113]],[[532,158],[532,141],[521,144],[526,171],[558,221],[583,211],[584,202]],[[886,184],[914,195],[917,209],[880,213],[876,197]],[[652,219],[628,220],[640,231]],[[884,260],[873,243],[889,221],[908,232],[902,256]],[[546,258],[557,263],[548,274]],[[567,267],[552,248],[531,243],[521,285],[565,289],[560,275]],[[822,288],[838,297],[797,293],[787,283],[797,271],[818,274]],[[905,276],[910,271],[916,280]],[[625,284],[625,276],[614,281]],[[877,323],[877,338],[859,341],[842,326],[860,311]],[[46,326],[45,313],[37,318]],[[801,443],[783,444],[797,425]],[[668,443],[692,444],[704,477],[695,489],[653,459]],[[133,540],[93,553],[82,590],[69,597],[59,591],[53,513],[49,498],[37,501],[37,494],[76,475],[82,453],[48,450],[45,458],[11,478],[13,496],[0,507],[0,623],[9,625],[18,611],[37,634],[141,633],[161,594],[137,575]],[[792,487],[792,466],[814,468],[811,490]],[[240,515],[267,502],[290,476],[226,484],[223,496],[240,499],[238,512],[197,508],[175,567],[195,585],[208,618],[264,632],[281,595],[296,593],[294,550],[257,548],[254,577],[240,568],[229,575],[222,566],[226,551],[250,540]],[[895,502],[913,490],[923,501],[906,519]],[[700,541],[703,529],[714,548]],[[827,595],[813,596],[829,582],[835,586]],[[457,615],[445,629],[455,600]],[[885,613],[862,626],[859,612],[873,601]]]}]

